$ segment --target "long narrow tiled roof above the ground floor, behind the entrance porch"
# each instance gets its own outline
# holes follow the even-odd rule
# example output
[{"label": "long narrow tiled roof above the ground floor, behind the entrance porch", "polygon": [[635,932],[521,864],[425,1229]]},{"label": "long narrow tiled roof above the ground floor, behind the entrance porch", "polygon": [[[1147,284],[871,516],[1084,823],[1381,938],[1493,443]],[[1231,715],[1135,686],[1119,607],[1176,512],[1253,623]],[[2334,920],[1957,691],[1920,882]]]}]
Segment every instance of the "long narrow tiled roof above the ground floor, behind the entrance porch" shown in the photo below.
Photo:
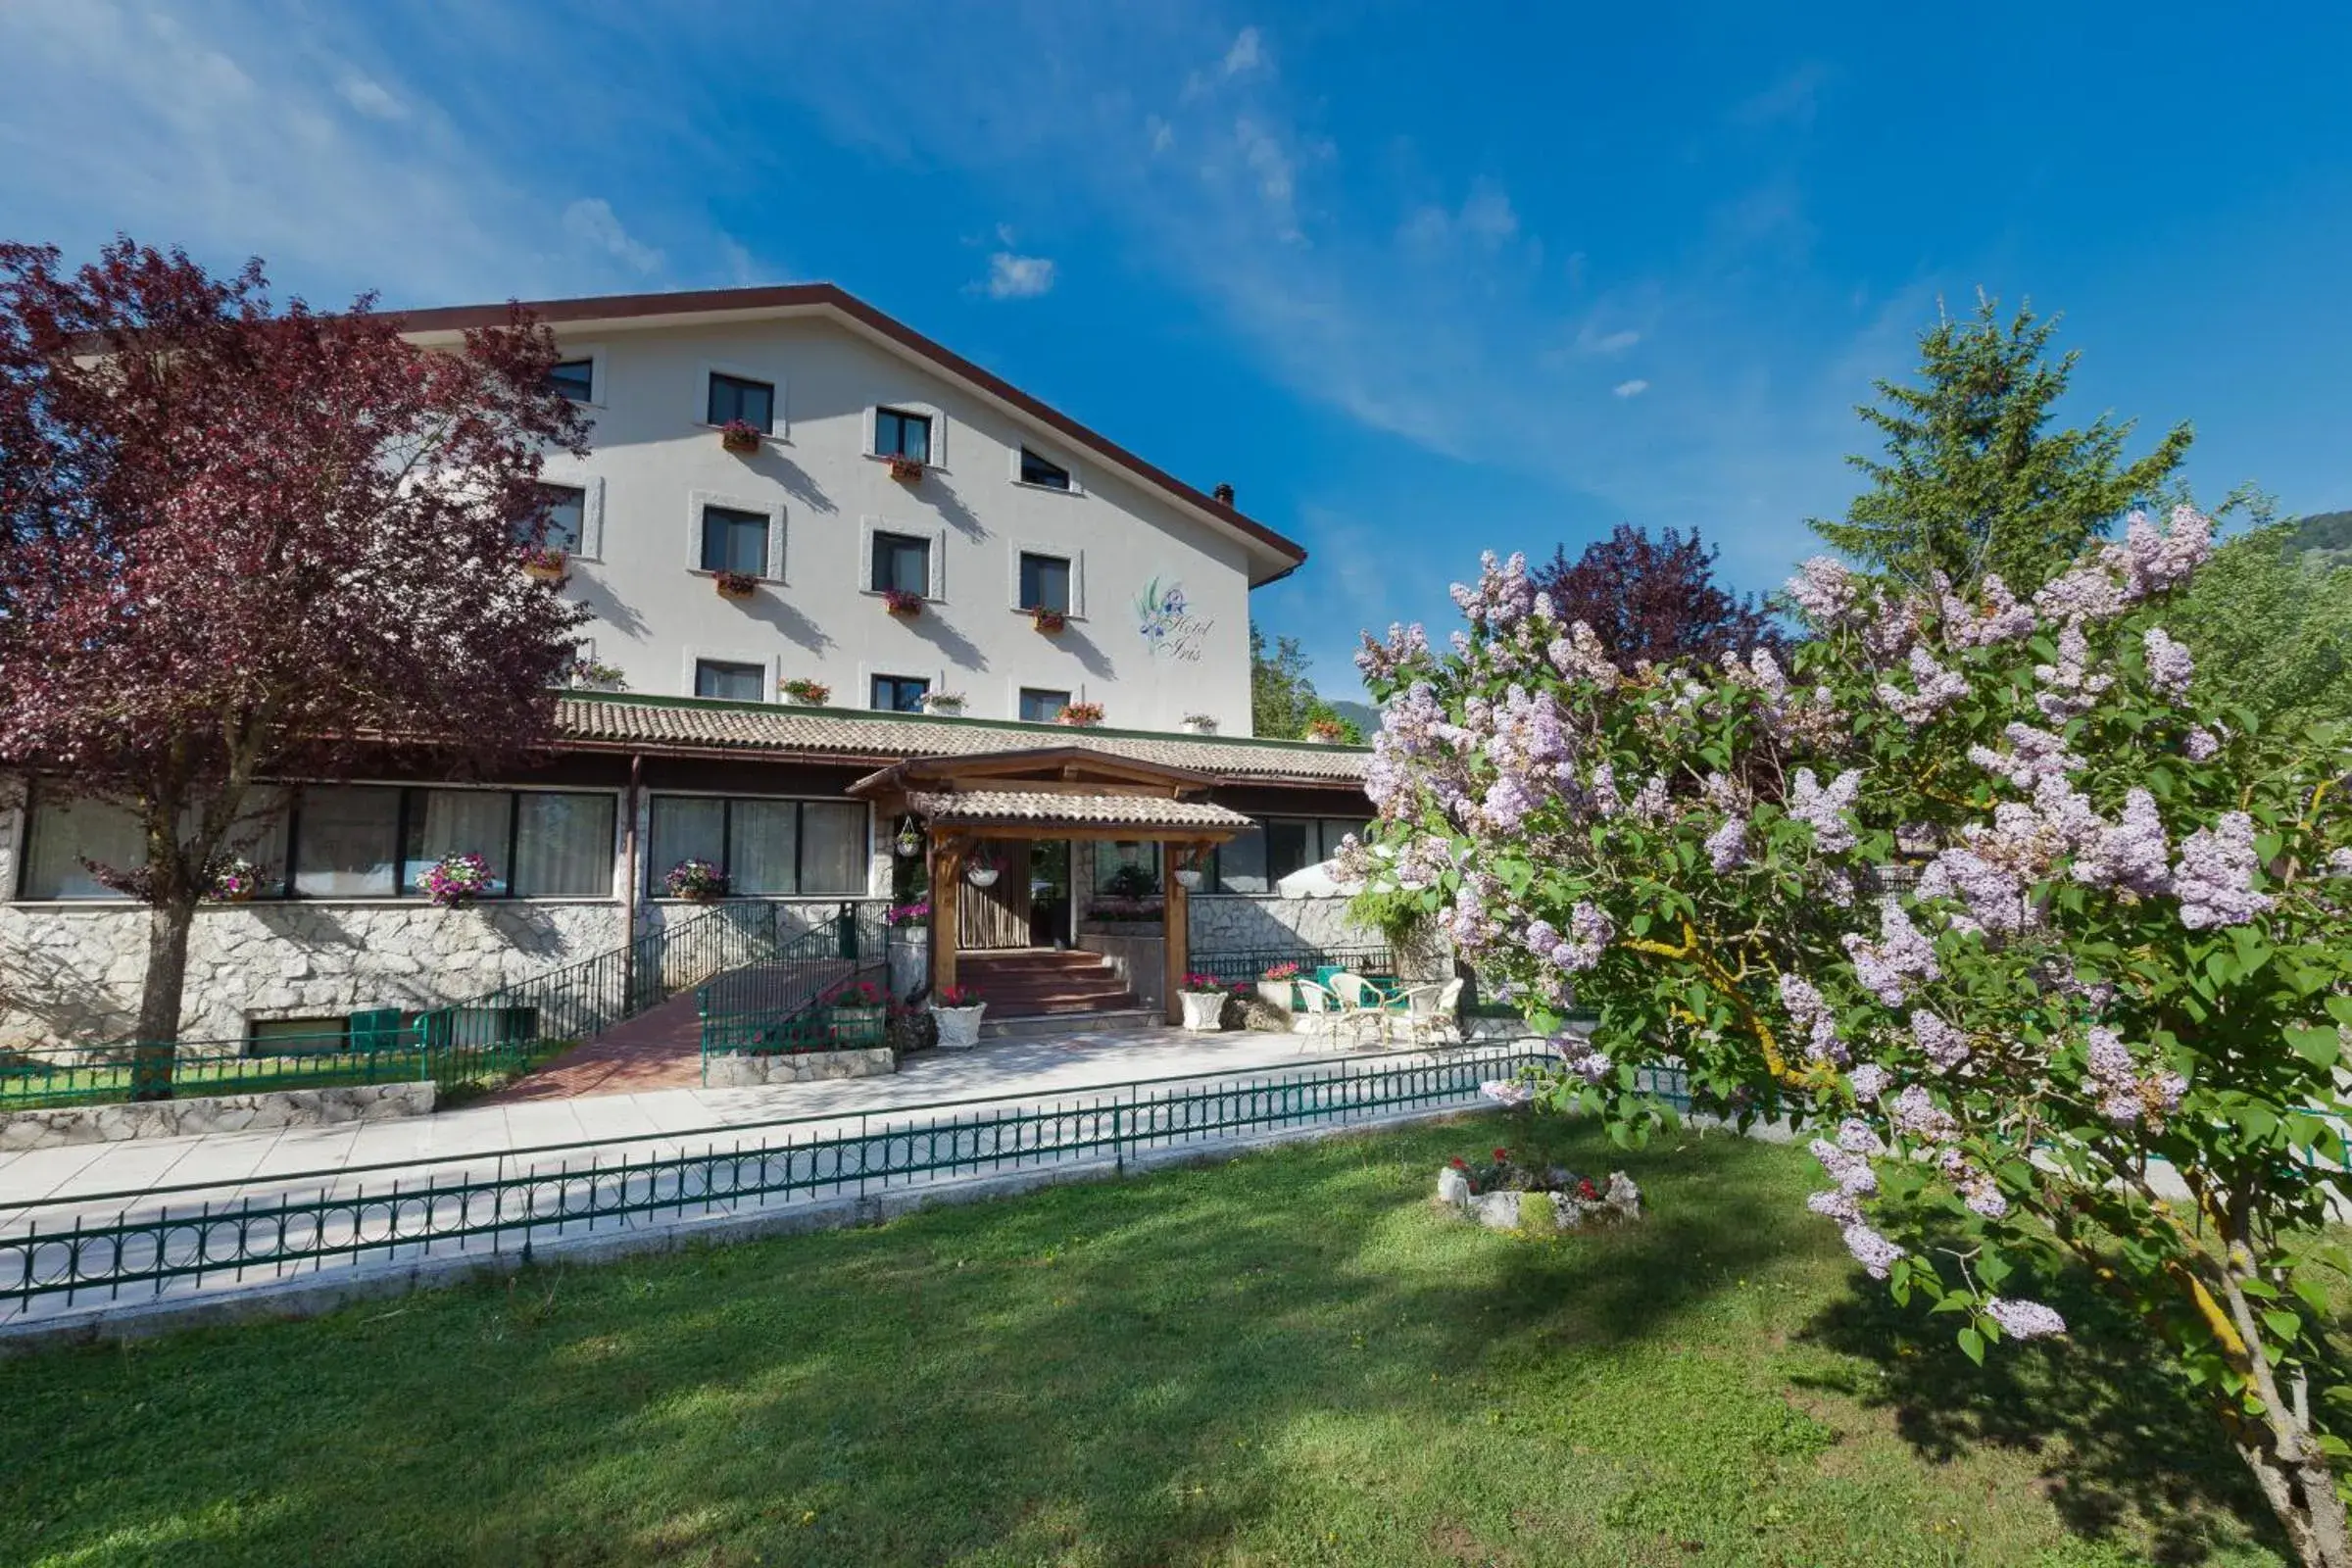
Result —
[{"label": "long narrow tiled roof above the ground floor, behind the entrance porch", "polygon": [[581,743],[647,752],[746,752],[840,762],[898,762],[906,757],[976,757],[1025,752],[1040,745],[1082,745],[1110,757],[1134,757],[1214,773],[1218,780],[1362,788],[1367,752],[1305,741],[1237,741],[1164,736],[1134,729],[1073,729],[997,719],[936,719],[913,712],[847,708],[781,708],[701,698],[633,698],[564,693],[555,729]]}]

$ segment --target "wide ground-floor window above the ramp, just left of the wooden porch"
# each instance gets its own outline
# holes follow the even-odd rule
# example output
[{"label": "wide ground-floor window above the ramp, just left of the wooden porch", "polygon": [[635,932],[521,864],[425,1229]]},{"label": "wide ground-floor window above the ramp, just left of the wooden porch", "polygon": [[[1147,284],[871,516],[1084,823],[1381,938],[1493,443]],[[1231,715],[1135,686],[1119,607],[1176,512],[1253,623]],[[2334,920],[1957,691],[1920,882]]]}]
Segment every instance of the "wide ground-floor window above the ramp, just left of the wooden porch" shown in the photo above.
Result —
[{"label": "wide ground-floor window above the ramp, just left of the wooden porch", "polygon": [[644,886],[661,896],[680,860],[710,860],[741,896],[866,891],[866,806],[804,799],[656,795]]}]

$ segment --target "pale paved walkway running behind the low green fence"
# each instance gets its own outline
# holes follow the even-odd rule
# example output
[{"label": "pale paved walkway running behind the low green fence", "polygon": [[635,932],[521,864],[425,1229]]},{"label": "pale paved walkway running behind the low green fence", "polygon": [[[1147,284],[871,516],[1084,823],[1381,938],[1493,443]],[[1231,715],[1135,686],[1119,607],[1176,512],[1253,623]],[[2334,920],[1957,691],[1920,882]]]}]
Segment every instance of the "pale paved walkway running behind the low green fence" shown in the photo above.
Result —
[{"label": "pale paved walkway running behind the low green fence", "polygon": [[[1305,1048],[1301,1048],[1305,1046]],[[788,1117],[858,1117],[938,1100],[1035,1100],[1091,1086],[1183,1074],[1251,1074],[1329,1065],[1324,1041],[1298,1034],[1185,1034],[1127,1030],[1051,1039],[990,1041],[976,1051],[924,1051],[891,1077],[783,1084],[764,1088],[642,1088],[569,1100],[487,1100],[405,1121],[134,1138],[0,1154],[0,1227],[28,1218],[45,1229],[73,1213],[148,1211],[167,1199],[129,1199],[151,1187],[188,1187],[186,1201],[268,1197],[294,1190],[289,1178],[395,1161],[447,1164],[452,1171],[553,1166],[529,1152],[543,1145],[609,1138],[604,1159],[668,1152],[691,1140],[717,1143],[727,1128]],[[583,1159],[572,1152],[569,1159]],[[355,1180],[360,1173],[353,1173]],[[99,1201],[89,1201],[96,1197]],[[179,1201],[172,1197],[169,1201]]]}]

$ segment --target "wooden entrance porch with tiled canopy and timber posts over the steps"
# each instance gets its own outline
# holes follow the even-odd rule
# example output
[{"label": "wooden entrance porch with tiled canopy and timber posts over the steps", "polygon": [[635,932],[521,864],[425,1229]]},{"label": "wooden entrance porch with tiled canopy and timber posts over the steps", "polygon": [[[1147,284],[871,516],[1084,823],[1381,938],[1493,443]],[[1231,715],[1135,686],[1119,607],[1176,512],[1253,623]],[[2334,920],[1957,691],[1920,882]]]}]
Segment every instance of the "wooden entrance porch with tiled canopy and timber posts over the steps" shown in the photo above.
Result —
[{"label": "wooden entrance porch with tiled canopy and timber posts over the steps", "polygon": [[[1207,773],[1155,762],[1110,757],[1080,745],[978,757],[915,757],[868,773],[849,792],[891,818],[917,818],[931,870],[931,985],[957,983],[957,957],[976,947],[1028,945],[1028,844],[1148,842],[1167,860],[1162,954],[1167,1018],[1178,1023],[1178,990],[1190,964],[1188,893],[1211,849],[1247,830],[1240,811],[1207,799]],[[993,856],[1018,849],[1011,867]],[[967,872],[995,870],[993,886],[967,884]],[[1007,875],[1021,886],[997,896]],[[1016,931],[1018,943],[1004,940]]]}]

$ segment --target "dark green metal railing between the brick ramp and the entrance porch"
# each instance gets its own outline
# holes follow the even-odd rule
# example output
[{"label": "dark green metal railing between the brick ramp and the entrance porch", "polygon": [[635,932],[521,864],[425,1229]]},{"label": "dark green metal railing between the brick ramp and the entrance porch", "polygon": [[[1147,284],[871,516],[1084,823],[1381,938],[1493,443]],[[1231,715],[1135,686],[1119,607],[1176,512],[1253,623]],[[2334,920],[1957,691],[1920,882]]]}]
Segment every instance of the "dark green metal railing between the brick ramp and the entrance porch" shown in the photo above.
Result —
[{"label": "dark green metal railing between the brick ramp and the entrance porch", "polygon": [[703,1081],[713,1056],[880,1046],[889,1020],[884,905],[842,905],[774,957],[729,969],[696,992]]}]

